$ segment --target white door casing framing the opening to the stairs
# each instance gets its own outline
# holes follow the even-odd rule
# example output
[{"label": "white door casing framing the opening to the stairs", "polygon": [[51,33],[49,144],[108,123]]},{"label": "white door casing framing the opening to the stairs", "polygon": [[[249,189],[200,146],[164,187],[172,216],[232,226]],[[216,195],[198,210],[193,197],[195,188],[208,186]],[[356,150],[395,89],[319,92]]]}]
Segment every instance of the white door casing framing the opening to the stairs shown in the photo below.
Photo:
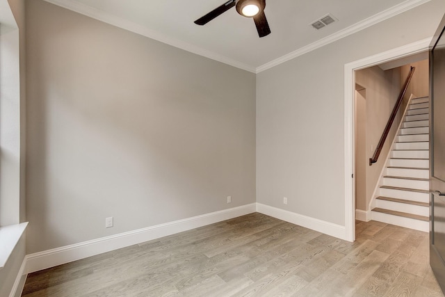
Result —
[{"label": "white door casing framing the opening to the stairs", "polygon": [[426,38],[413,42],[403,47],[397,47],[389,51],[384,51],[380,54],[375,54],[361,60],[345,64],[345,78],[344,78],[344,162],[345,162],[345,227],[347,240],[355,239],[355,207],[354,207],[354,183],[351,175],[354,172],[353,168],[353,145],[354,145],[354,90],[355,90],[355,70],[360,70],[366,67],[378,65],[388,61],[419,54],[422,51],[428,51],[430,48],[431,38]]}]

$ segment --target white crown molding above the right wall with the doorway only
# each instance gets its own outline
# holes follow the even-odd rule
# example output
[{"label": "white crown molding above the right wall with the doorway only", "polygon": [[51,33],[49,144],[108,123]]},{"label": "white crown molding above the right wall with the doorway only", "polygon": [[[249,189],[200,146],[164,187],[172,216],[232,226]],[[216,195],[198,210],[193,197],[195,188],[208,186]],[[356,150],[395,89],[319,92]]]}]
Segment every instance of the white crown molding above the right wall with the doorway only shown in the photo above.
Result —
[{"label": "white crown molding above the right wall with the doorway only", "polygon": [[373,26],[375,24],[378,24],[379,22],[385,21],[386,19],[389,19],[401,13],[405,13],[405,11],[415,8],[416,6],[421,6],[422,4],[427,3],[429,1],[431,0],[407,0],[387,10],[384,10],[381,13],[373,15],[372,17],[364,19],[361,22],[353,24],[352,26],[349,26],[346,29],[338,31],[337,33],[322,38],[321,40],[317,40],[316,42],[313,42],[310,45],[297,49],[296,51],[292,51],[289,54],[286,54],[280,58],[276,58],[275,60],[270,61],[264,65],[261,65],[257,67],[256,73],[258,74],[259,72],[268,70],[293,58],[307,54],[309,53],[309,51],[314,51],[315,49],[324,47],[325,45],[329,45],[332,42],[340,40],[341,38],[345,38],[346,36],[362,31],[368,28],[369,26]]}]

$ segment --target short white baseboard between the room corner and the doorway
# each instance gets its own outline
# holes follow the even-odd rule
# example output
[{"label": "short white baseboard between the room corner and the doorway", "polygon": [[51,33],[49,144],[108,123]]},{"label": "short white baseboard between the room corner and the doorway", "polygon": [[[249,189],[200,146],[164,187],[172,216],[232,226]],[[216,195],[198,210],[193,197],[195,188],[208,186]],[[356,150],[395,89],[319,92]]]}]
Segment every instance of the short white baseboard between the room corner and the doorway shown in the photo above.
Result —
[{"label": "short white baseboard between the room corner and the doorway", "polygon": [[339,239],[346,239],[345,227],[334,223],[329,223],[324,220],[318,220],[317,218],[311,218],[309,216],[303,216],[302,214],[296,214],[284,209],[278,209],[276,207],[270,207],[265,204],[257,203],[257,212],[266,214],[267,216],[273,216],[280,220],[293,223],[302,227],[306,227],[318,232],[337,237]]}]

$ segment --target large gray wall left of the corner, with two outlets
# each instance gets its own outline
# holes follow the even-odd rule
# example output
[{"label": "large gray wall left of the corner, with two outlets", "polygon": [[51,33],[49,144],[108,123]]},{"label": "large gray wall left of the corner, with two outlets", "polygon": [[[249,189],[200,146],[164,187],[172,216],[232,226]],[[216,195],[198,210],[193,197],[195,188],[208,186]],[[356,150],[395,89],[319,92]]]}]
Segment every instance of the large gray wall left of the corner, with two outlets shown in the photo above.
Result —
[{"label": "large gray wall left of the corner, with two outlets", "polygon": [[26,4],[28,253],[255,202],[254,74]]}]

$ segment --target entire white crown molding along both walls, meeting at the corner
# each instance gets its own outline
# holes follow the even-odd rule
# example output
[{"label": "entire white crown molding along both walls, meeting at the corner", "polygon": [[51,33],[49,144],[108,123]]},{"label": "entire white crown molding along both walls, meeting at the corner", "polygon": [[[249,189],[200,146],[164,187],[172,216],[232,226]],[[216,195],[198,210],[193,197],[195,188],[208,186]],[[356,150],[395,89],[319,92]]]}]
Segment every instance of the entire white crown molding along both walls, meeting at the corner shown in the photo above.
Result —
[{"label": "entire white crown molding along both walls, meeting at the corner", "polygon": [[117,17],[115,15],[105,13],[102,10],[92,8],[92,7],[90,7],[86,4],[83,4],[83,3],[79,3],[76,1],[70,1],[70,0],[44,0],[44,1],[53,3],[53,4],[63,7],[63,8],[67,8],[69,10],[76,12],[76,13],[81,13],[82,15],[92,17],[93,19],[98,19],[99,21],[105,22],[107,24],[111,24],[113,26],[117,26],[119,28],[131,31],[133,33],[143,35],[147,38],[152,38],[159,42],[163,42],[167,45],[171,45],[172,47],[184,49],[185,51],[190,51],[193,54],[204,56],[206,58],[210,58],[212,60],[215,60],[215,61],[218,61],[221,63],[225,63],[227,65],[231,65],[233,67],[236,67],[236,68],[239,68],[242,70],[246,70],[248,72],[259,73],[264,70],[268,70],[272,67],[275,67],[277,65],[280,65],[280,64],[282,64],[286,61],[289,61],[293,58],[301,56],[303,54],[307,54],[309,51],[313,51],[314,49],[324,47],[325,45],[335,42],[343,37],[346,37],[353,33],[357,33],[358,31],[368,28],[369,26],[373,26],[374,24],[385,21],[385,19],[389,19],[390,17],[394,17],[395,15],[404,13],[407,10],[415,8],[416,6],[420,6],[420,5],[427,3],[431,0],[407,0],[407,1],[400,3],[396,6],[393,6],[387,10],[384,10],[381,13],[373,15],[367,19],[364,19],[361,22],[353,24],[352,26],[349,26],[346,29],[343,29],[343,30],[338,31],[337,33],[334,33],[332,35],[329,35],[321,40],[313,42],[310,45],[307,45],[305,47],[297,49],[296,51],[292,51],[289,54],[286,54],[280,58],[276,58],[275,60],[270,61],[270,62],[268,62],[264,65],[261,65],[259,67],[255,67],[253,65],[248,65],[248,64],[242,63],[240,61],[236,61],[232,58],[228,58],[226,56],[216,54],[216,52],[209,51],[207,49],[203,49],[202,47],[197,47],[195,45],[191,45],[190,43],[181,41],[177,38],[171,38],[170,36],[160,33],[158,31],[154,31],[152,29],[148,29],[145,26],[141,26],[139,24],[129,22],[126,19],[123,19],[122,17]]}]

